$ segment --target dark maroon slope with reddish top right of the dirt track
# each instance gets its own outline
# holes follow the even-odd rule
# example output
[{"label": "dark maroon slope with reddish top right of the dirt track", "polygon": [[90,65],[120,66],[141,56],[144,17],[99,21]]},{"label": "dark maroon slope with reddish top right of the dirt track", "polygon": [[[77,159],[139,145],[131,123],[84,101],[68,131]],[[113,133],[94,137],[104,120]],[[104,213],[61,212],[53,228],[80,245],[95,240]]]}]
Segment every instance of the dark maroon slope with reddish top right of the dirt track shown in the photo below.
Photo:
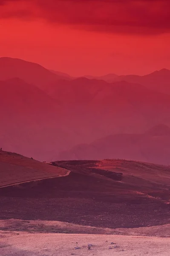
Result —
[{"label": "dark maroon slope with reddish top right of the dirt track", "polygon": [[59,161],[66,177],[0,189],[0,219],[55,220],[93,227],[170,222],[170,168],[125,160]]}]

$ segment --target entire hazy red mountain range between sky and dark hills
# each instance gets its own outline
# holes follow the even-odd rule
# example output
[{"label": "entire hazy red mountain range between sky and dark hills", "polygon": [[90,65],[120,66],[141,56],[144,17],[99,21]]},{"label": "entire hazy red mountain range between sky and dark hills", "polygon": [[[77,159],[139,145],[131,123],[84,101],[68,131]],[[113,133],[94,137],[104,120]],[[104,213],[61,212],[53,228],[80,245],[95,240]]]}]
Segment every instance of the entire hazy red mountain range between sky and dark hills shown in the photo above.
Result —
[{"label": "entire hazy red mountain range between sky and dark hills", "polygon": [[170,127],[169,74],[72,78],[0,58],[0,146],[47,161],[111,157],[168,164],[164,129],[159,138],[145,132]]}]

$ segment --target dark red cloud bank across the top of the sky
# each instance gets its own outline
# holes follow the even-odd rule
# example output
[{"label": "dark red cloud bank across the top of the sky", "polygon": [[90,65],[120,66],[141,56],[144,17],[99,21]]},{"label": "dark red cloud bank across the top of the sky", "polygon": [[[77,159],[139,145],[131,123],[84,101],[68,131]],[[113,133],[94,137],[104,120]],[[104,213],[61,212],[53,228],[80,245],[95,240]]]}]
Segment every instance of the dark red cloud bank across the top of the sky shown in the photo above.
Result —
[{"label": "dark red cloud bank across the top of the sky", "polygon": [[0,14],[102,32],[170,32],[169,0],[0,0]]}]

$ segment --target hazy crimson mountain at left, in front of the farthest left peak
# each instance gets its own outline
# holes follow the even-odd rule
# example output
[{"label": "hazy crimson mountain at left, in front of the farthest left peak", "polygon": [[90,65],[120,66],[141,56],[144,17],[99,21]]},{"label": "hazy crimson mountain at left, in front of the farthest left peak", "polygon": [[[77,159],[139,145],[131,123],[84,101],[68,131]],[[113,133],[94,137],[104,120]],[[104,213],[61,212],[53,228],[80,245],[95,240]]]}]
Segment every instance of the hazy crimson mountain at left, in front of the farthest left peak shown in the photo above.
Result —
[{"label": "hazy crimson mountain at left, in front of the farthest left peak", "polygon": [[[51,159],[76,136],[61,122],[62,108],[20,79],[0,81],[0,147],[39,160]],[[73,141],[74,140],[74,141]]]}]

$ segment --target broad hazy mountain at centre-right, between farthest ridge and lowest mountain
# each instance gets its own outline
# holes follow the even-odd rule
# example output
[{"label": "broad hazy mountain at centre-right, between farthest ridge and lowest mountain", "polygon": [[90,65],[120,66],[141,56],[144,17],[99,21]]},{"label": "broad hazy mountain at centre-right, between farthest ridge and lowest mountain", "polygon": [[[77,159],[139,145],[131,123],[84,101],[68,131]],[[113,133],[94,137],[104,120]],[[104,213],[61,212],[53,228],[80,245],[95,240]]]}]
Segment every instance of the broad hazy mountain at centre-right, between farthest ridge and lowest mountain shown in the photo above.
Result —
[{"label": "broad hazy mountain at centre-right, between farthest ridge and lowest mountain", "polygon": [[[66,125],[84,142],[112,133],[139,133],[158,123],[170,125],[170,96],[143,85],[79,78],[47,89],[66,111]],[[82,140],[82,142],[83,142]]]}]

